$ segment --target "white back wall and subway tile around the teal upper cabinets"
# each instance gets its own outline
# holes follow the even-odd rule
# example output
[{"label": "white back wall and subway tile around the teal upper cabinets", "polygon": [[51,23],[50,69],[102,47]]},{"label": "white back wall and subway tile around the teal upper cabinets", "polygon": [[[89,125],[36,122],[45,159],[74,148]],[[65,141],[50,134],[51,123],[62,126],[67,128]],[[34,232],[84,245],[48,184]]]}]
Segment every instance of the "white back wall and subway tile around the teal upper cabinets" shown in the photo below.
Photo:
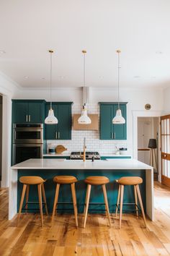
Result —
[{"label": "white back wall and subway tile around the teal upper cabinets", "polygon": [[[82,102],[82,89],[81,88],[58,88],[53,89],[53,101],[73,101],[75,104],[73,106],[73,112],[81,112],[81,102]],[[17,94],[17,98],[34,98],[40,99],[45,98],[49,101],[50,93],[49,90],[45,89],[34,89],[34,90],[21,90]],[[89,103],[89,113],[99,113],[99,101],[117,101],[117,88],[91,88],[90,90],[90,103]],[[104,153],[113,153],[115,150],[115,145],[117,143],[128,146],[128,153],[133,155],[133,111],[146,111],[145,104],[151,104],[151,111],[162,111],[163,109],[163,90],[161,89],[140,89],[135,90],[132,88],[122,88],[120,90],[120,101],[128,102],[127,105],[127,126],[128,126],[128,140],[127,141],[107,141],[99,140],[99,132],[73,132],[73,139],[71,141],[57,141],[62,143],[68,148],[68,150],[73,150],[77,148],[80,150],[82,147],[82,141],[80,138],[86,136],[87,142],[89,141],[89,150],[97,149]],[[147,111],[148,112],[148,111]],[[79,135],[79,136],[78,136]],[[79,140],[76,140],[79,137]],[[91,141],[91,143],[90,143]],[[55,141],[51,141],[55,143]],[[90,145],[91,144],[91,145]],[[88,146],[88,145],[87,145]]]}]

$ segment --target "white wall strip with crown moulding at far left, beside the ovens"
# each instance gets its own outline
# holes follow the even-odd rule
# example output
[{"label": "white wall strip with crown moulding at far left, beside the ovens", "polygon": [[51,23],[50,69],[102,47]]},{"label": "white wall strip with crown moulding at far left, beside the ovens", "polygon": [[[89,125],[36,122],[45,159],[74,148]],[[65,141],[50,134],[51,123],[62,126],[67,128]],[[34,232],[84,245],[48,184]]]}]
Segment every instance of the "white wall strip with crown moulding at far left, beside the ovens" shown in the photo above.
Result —
[{"label": "white wall strip with crown moulding at far left, beside the ovens", "polygon": [[12,98],[15,98],[19,93],[19,87],[1,72],[0,93],[3,96],[1,187],[8,187],[11,166]]}]

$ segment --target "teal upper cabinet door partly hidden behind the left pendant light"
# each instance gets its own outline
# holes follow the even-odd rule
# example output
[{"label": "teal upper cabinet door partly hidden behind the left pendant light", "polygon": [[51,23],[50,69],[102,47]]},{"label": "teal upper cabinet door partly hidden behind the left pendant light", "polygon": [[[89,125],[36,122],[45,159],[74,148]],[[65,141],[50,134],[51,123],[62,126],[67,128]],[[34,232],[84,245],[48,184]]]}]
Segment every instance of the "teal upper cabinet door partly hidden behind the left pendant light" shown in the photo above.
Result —
[{"label": "teal upper cabinet door partly hidden behind the left pendant light", "polygon": [[[58,108],[55,104],[52,106],[55,116],[58,118]],[[50,104],[46,104],[45,117],[48,116]],[[45,124],[45,140],[56,140],[58,138],[58,124]]]}]

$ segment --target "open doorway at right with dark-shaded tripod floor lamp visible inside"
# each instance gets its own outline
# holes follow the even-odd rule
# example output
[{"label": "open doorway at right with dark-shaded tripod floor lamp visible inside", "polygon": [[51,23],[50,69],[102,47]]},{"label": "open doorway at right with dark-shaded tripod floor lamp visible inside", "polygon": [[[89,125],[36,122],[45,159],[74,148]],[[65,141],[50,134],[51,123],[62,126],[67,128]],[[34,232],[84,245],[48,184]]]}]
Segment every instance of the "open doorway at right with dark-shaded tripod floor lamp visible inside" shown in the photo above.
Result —
[{"label": "open doorway at right with dark-shaded tripod floor lamp visible inside", "polygon": [[[138,160],[153,166],[154,179],[158,180],[158,148],[159,148],[159,118],[138,117]],[[148,148],[151,139],[155,142],[154,148]]]}]

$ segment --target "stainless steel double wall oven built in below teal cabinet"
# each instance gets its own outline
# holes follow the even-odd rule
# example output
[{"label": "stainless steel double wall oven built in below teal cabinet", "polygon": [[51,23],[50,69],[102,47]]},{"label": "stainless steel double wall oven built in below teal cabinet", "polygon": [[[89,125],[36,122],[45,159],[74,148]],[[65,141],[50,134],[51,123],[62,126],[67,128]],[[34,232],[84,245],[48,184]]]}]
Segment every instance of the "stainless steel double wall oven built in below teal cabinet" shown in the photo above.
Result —
[{"label": "stainless steel double wall oven built in below teal cabinet", "polygon": [[43,124],[13,125],[13,164],[30,158],[42,158]]}]

